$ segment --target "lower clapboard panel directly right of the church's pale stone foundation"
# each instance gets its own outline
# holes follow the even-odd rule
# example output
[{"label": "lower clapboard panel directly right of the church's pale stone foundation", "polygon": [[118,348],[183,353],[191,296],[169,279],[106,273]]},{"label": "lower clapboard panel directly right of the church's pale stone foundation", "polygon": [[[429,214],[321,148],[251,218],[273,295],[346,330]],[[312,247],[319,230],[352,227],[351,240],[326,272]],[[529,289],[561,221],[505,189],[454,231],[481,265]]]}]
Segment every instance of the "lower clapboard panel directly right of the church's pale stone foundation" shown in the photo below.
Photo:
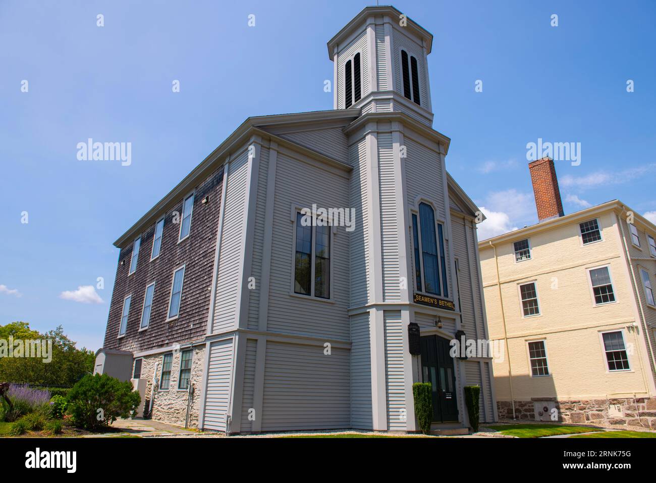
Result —
[{"label": "lower clapboard panel directly right of the church's pale stone foundation", "polygon": [[206,429],[225,431],[232,385],[232,338],[213,342],[209,350],[207,392],[205,393]]}]

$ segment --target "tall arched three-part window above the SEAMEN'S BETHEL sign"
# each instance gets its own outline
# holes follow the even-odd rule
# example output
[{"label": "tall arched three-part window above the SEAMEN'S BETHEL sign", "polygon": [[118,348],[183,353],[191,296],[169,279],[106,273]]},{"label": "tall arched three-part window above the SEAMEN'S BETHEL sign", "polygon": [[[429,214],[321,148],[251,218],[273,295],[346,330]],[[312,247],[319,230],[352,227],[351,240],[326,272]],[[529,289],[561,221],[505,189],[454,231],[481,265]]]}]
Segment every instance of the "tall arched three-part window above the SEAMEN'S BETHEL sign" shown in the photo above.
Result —
[{"label": "tall arched three-part window above the SEAMEN'S BETHEL sign", "polygon": [[417,290],[448,297],[442,225],[438,223],[436,233],[435,212],[426,203],[419,204],[419,217],[413,214],[412,221]]}]

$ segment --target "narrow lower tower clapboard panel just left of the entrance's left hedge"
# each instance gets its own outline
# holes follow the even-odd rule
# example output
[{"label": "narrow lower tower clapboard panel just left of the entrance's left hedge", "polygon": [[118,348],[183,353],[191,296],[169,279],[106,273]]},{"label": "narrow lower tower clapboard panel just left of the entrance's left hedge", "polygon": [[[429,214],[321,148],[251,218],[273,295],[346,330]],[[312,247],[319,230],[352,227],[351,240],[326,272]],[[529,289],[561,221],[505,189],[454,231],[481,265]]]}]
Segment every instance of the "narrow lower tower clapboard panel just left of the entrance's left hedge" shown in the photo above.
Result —
[{"label": "narrow lower tower clapboard panel just left of the entrance's left hedge", "polygon": [[403,323],[400,311],[384,311],[387,427],[405,430],[407,407],[403,371]]}]

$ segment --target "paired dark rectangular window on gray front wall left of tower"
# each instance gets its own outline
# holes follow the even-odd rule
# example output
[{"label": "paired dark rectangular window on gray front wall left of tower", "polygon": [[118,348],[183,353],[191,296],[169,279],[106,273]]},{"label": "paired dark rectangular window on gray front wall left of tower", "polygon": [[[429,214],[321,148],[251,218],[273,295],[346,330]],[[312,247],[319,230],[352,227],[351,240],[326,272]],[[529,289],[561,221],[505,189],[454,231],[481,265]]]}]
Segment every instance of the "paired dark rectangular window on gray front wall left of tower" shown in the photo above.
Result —
[{"label": "paired dark rectangular window on gray front wall left of tower", "polygon": [[330,298],[331,227],[304,225],[303,219],[297,213],[294,292]]}]

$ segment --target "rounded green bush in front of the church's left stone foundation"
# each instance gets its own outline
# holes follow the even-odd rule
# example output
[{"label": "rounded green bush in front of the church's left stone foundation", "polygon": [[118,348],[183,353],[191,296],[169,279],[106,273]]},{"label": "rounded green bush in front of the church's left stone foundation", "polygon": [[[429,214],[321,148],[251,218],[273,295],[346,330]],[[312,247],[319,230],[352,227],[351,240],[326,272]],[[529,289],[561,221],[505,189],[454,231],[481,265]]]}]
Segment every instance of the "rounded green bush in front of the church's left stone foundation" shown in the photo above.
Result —
[{"label": "rounded green bush in front of the church's left stone foundation", "polygon": [[119,417],[134,417],[141,396],[130,381],[106,374],[86,375],[68,392],[68,412],[76,426],[106,428]]}]

